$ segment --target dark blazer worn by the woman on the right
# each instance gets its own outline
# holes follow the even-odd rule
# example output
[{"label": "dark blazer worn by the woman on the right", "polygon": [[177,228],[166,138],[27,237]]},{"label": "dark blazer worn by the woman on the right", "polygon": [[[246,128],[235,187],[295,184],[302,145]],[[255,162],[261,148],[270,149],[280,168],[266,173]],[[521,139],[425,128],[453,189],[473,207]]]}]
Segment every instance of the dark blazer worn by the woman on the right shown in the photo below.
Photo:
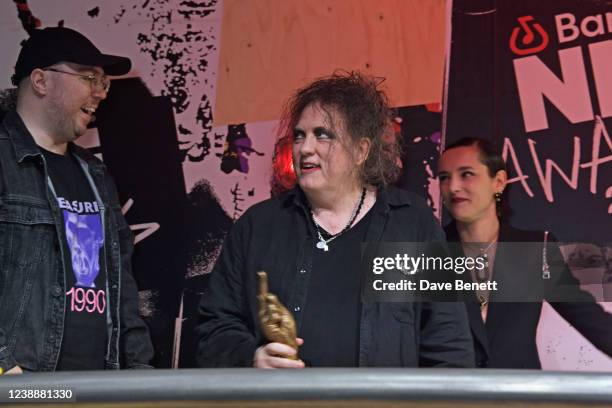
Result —
[{"label": "dark blazer worn by the woman on the right", "polygon": [[[449,242],[459,242],[455,223],[445,228]],[[539,242],[543,231],[523,231],[502,224],[499,242]],[[549,235],[549,241],[551,240]],[[510,284],[513,288],[542,294],[551,306],[595,347],[612,355],[612,315],[607,313],[587,292],[580,290],[579,282],[571,275],[556,245],[549,245],[548,258],[552,280],[562,280],[564,292],[559,294],[541,286],[542,245],[521,247],[520,254],[511,248],[499,246],[493,266],[493,280],[500,287]],[[467,275],[467,274],[466,274]],[[507,285],[504,287],[508,287]],[[535,289],[534,289],[535,288]],[[536,329],[540,320],[542,301],[496,302],[492,292],[486,323],[482,321],[480,305],[476,297],[465,305],[476,352],[476,366],[489,368],[541,368],[536,346]],[[555,299],[572,299],[558,302]],[[498,299],[499,300],[499,299]]]}]

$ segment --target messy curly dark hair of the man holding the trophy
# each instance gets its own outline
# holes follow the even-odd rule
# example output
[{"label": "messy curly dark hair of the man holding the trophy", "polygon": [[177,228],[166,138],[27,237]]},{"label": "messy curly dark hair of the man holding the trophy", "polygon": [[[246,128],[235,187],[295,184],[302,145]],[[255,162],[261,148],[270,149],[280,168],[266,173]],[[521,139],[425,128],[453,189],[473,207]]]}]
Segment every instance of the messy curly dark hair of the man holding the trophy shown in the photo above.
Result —
[{"label": "messy curly dark hair of the man holding the trophy", "polygon": [[[297,90],[285,105],[281,117],[280,137],[293,140],[293,129],[302,112],[319,104],[333,123],[330,110],[337,112],[353,143],[370,140],[370,150],[360,166],[359,178],[364,185],[384,187],[397,180],[401,149],[395,140],[392,119],[394,111],[387,95],[379,89],[383,79],[359,72],[336,71]],[[336,130],[336,129],[334,129]]]}]

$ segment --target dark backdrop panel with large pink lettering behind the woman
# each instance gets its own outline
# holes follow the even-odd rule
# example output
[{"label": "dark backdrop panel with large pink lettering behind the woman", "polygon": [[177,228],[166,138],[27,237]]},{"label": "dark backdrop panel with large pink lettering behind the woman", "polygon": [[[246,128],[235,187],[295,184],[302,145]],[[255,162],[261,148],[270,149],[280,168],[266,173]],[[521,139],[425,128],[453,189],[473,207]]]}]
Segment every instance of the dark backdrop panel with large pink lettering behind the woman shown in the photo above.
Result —
[{"label": "dark backdrop panel with large pink lettering behind the woman", "polygon": [[[511,224],[594,244],[565,255],[602,299],[612,272],[612,2],[453,0],[445,110],[446,144],[478,136],[503,149]],[[588,343],[570,358],[561,343],[582,340],[549,307],[543,319],[555,322],[540,325],[544,367],[612,366]]]}]

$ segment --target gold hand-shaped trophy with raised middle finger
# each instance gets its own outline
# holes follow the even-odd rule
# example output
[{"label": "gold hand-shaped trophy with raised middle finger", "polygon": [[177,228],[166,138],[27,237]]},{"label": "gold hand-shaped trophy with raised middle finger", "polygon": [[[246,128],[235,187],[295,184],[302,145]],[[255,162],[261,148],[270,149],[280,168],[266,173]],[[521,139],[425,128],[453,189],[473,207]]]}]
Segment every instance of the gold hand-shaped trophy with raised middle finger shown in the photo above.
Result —
[{"label": "gold hand-shaped trophy with raised middle finger", "polygon": [[[257,277],[259,279],[257,299],[259,300],[261,331],[271,342],[286,344],[297,351],[297,330],[293,315],[283,306],[276,295],[268,292],[268,275],[265,272],[257,272]],[[297,353],[293,356],[287,356],[287,358],[299,359]]]}]

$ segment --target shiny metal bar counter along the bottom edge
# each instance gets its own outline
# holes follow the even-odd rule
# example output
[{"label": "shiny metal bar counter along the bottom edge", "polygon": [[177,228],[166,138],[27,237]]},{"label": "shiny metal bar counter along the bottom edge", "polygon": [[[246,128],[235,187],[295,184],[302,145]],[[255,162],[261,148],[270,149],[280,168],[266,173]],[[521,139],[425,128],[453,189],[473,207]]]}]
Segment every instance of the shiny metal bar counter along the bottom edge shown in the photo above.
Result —
[{"label": "shiny metal bar counter along the bottom edge", "polygon": [[[70,390],[71,400],[54,396],[43,399],[40,392],[38,399],[15,398],[15,390]],[[29,396],[33,395],[30,392]],[[1,404],[25,407],[37,402],[124,407],[612,406],[612,374],[477,369],[183,369],[0,377]]]}]

